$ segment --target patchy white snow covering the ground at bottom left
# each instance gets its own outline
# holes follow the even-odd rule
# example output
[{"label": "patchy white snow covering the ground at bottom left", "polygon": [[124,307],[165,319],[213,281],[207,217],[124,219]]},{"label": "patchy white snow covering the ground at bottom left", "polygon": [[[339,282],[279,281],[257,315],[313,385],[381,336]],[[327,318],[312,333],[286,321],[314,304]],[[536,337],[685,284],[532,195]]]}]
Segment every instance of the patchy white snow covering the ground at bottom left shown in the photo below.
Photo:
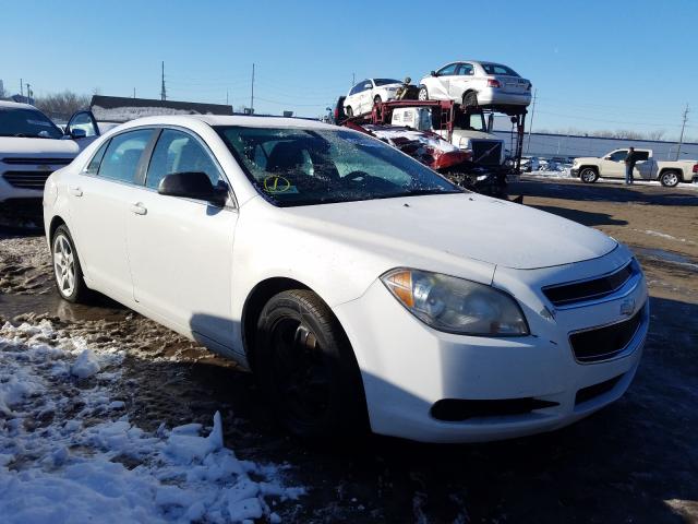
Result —
[{"label": "patchy white snow covering the ground at bottom left", "polygon": [[287,466],[239,460],[218,413],[205,437],[132,425],[110,394],[124,356],[47,320],[0,327],[0,520],[280,522],[275,504],[305,492]]}]

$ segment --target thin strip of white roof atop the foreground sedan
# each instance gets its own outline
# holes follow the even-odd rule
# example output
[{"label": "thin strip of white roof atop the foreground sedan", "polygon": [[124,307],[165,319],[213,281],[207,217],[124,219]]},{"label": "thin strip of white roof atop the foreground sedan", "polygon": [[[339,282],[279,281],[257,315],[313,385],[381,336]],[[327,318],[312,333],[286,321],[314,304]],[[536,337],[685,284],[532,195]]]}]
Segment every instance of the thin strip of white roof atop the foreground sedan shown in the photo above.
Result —
[{"label": "thin strip of white roof atop the foreground sedan", "polygon": [[337,130],[337,126],[323,123],[318,120],[286,117],[254,117],[243,115],[172,115],[158,117],[143,117],[129,120],[124,127],[135,126],[188,126],[192,122],[204,122],[208,126],[240,126],[244,128],[302,128]]}]

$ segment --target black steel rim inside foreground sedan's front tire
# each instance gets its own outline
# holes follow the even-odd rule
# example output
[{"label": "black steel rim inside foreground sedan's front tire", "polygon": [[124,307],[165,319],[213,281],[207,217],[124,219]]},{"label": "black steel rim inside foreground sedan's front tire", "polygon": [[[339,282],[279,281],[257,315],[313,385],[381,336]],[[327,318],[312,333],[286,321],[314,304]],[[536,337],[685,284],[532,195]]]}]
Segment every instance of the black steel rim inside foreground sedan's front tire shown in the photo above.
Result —
[{"label": "black steel rim inside foreground sedan's front tire", "polygon": [[286,416],[313,424],[329,408],[330,377],[320,341],[303,322],[284,318],[272,327],[274,386]]}]

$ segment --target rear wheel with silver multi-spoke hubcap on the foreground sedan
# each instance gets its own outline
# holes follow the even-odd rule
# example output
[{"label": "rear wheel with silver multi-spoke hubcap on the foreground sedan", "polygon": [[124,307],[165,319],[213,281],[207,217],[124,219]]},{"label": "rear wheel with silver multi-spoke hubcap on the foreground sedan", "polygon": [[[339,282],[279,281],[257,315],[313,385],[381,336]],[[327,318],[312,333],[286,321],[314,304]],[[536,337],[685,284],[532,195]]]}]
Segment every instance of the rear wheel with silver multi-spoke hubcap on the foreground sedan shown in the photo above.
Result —
[{"label": "rear wheel with silver multi-spoke hubcap on the foreground sedan", "polygon": [[58,226],[51,238],[51,261],[56,288],[63,300],[86,302],[89,289],[85,285],[77,250],[68,227]]}]

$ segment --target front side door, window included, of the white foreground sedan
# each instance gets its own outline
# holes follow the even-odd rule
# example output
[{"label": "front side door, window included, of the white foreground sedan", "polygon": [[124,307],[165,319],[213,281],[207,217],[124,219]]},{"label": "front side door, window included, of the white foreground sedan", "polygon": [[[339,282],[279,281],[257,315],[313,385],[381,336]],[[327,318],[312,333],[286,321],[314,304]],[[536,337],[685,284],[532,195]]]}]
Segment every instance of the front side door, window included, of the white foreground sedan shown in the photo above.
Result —
[{"label": "front side door, window included, of the white foreground sedan", "polygon": [[160,180],[172,172],[205,172],[214,184],[226,183],[197,136],[174,129],[161,131],[145,186],[134,194],[128,218],[133,296],[179,331],[233,348],[239,330],[231,314],[238,212],[232,205],[217,207],[201,200],[159,194]]}]

